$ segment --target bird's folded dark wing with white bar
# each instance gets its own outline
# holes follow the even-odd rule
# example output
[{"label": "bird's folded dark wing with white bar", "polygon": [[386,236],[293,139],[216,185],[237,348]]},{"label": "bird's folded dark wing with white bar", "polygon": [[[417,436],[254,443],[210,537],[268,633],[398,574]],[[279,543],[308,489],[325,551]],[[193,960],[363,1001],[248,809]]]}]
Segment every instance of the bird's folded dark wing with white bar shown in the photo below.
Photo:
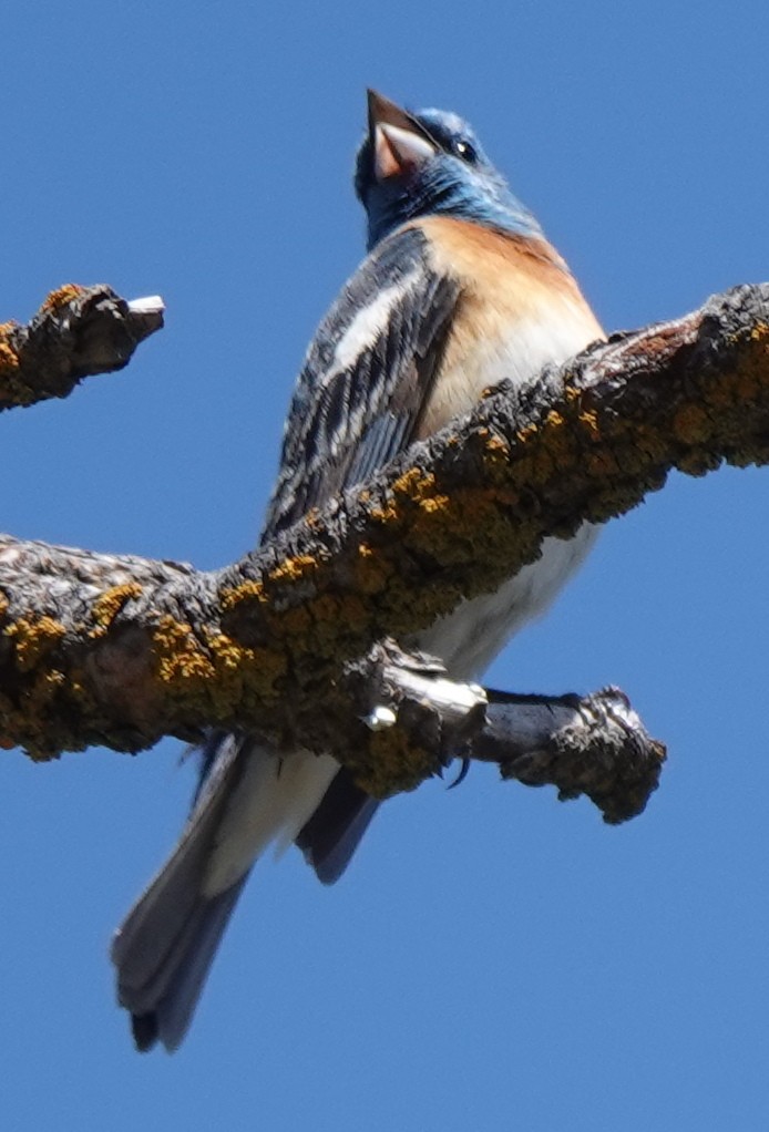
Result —
[{"label": "bird's folded dark wing with white bar", "polygon": [[360,483],[418,426],[460,295],[418,228],[384,240],[323,320],[289,411],[263,540]]}]

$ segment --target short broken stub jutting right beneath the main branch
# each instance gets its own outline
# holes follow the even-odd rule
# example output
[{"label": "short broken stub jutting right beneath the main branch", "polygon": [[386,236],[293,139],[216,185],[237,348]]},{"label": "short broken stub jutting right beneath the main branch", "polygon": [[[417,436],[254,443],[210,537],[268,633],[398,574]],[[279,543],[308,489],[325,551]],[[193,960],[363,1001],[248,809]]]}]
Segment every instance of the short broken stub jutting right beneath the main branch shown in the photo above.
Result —
[{"label": "short broken stub jutting right beneath the main branch", "polygon": [[373,794],[386,796],[393,782],[418,786],[462,757],[497,763],[503,779],[555,786],[562,799],[583,794],[617,823],[640,814],[659,782],[665,747],[618,688],[583,697],[487,693],[453,683],[441,661],[408,655],[393,641],[348,666],[343,685],[347,718],[376,734],[393,729],[400,743],[383,751],[365,734],[345,735],[344,762]]}]

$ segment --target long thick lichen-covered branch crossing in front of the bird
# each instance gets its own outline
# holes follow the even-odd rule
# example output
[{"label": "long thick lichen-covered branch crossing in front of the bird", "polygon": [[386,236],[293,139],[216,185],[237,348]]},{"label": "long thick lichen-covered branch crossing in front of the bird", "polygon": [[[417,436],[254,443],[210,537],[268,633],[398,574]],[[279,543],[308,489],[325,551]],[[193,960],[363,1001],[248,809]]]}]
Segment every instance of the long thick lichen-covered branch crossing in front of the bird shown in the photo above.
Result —
[{"label": "long thick lichen-covered branch crossing in front of the bird", "polygon": [[[408,643],[531,561],[544,537],[622,514],[673,468],[702,474],[724,460],[769,460],[769,285],[616,335],[524,395],[497,388],[220,572],[7,538],[0,735],[50,756],[222,724],[351,761],[345,743],[361,736],[344,674],[371,642]],[[367,730],[376,794],[439,765],[401,728]]]}]

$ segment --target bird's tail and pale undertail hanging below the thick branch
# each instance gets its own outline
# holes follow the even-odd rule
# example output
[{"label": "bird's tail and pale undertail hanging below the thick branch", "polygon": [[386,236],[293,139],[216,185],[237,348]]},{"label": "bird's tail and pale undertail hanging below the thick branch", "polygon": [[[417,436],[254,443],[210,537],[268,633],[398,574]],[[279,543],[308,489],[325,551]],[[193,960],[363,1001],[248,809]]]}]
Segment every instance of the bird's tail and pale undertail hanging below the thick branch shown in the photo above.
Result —
[{"label": "bird's tail and pale undertail hanging below the thick branch", "polygon": [[254,740],[223,734],[211,737],[203,755],[204,778],[181,839],[112,943],[118,1001],[131,1014],[140,1050],[181,1044],[263,849],[296,839],[321,880],[332,883],[377,806],[327,755],[277,758]]}]

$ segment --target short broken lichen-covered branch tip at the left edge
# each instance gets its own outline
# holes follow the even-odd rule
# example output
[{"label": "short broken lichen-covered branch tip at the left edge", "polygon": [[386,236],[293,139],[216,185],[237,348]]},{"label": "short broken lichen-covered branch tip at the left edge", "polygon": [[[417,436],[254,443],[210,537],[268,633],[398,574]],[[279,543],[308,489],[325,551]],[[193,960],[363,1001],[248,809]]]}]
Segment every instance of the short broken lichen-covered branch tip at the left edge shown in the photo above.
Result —
[{"label": "short broken lichen-covered branch tip at the left edge", "polygon": [[126,302],[108,286],[52,291],[28,326],[0,325],[0,410],[66,397],[84,377],[122,369],[162,325],[157,295]]}]

